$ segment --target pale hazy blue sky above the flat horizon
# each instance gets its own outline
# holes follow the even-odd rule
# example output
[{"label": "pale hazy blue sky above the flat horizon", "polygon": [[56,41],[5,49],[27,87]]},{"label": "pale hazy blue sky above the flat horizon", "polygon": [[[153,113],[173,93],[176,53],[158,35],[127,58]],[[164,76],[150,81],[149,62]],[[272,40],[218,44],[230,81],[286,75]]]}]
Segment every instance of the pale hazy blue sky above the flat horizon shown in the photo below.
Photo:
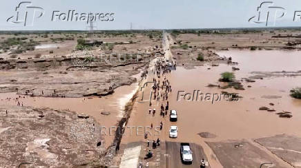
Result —
[{"label": "pale hazy blue sky above the flat horizon", "polygon": [[[265,27],[267,11],[269,11],[267,23],[269,27],[301,26],[301,19],[297,16],[298,13],[301,16],[301,12],[295,14],[295,11],[301,11],[300,0],[266,3],[260,9],[260,23],[254,21],[258,21],[258,6],[265,1],[258,0],[32,0],[28,1],[31,4],[23,3],[18,8],[18,19],[16,7],[26,1],[1,1],[0,30],[89,29],[90,24],[86,21],[58,21],[59,14],[68,14],[68,10],[75,10],[79,14],[93,13],[97,17],[97,21],[94,22],[95,30],[125,30],[130,29],[130,23],[133,29]],[[56,21],[51,20],[54,11]],[[24,26],[23,18],[26,12],[28,15]],[[43,15],[39,17],[42,12]],[[113,13],[107,17],[114,21],[100,21],[99,16],[100,19],[104,19],[104,14],[101,13]],[[251,17],[254,19],[249,22]],[[64,14],[61,15],[61,19],[64,20]]]}]

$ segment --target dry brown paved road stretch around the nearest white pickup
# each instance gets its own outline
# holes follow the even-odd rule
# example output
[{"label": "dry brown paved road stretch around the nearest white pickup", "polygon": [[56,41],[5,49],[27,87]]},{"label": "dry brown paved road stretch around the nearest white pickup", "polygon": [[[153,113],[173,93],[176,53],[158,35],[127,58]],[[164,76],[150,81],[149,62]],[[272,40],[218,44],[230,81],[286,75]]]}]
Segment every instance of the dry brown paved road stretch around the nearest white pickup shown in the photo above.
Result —
[{"label": "dry brown paved road stretch around the nearest white pickup", "polygon": [[[206,155],[204,154],[204,150],[200,145],[195,145],[193,143],[190,144],[191,149],[193,151],[193,163],[191,165],[184,165],[181,160],[179,147],[180,143],[174,142],[166,142],[162,144],[162,151],[166,152],[166,155],[162,155],[162,168],[191,168],[191,167],[200,167],[200,160],[202,158],[206,159]],[[164,152],[162,152],[164,153]]]}]

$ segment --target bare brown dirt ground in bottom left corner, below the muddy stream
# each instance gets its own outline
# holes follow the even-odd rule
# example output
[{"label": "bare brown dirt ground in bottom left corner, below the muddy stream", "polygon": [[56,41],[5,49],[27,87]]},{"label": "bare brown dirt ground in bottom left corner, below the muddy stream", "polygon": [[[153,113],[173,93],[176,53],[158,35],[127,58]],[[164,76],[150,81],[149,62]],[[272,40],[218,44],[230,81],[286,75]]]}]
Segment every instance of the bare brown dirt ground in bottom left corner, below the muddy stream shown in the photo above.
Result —
[{"label": "bare brown dirt ground in bottom left corner, below the muddy stream", "polygon": [[105,151],[100,125],[91,117],[5,105],[0,120],[0,167],[73,167]]}]

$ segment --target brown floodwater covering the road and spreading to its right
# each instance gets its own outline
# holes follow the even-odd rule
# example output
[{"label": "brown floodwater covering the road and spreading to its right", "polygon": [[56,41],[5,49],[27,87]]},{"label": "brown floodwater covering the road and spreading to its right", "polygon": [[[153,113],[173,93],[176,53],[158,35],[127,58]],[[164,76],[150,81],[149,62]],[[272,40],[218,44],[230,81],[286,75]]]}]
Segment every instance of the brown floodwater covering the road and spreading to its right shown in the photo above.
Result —
[{"label": "brown floodwater covering the road and spreading to its right", "polygon": [[[222,53],[222,54],[221,54]],[[282,51],[229,51],[218,52],[220,56],[231,56],[233,61],[237,61],[240,71],[235,71],[237,79],[251,76],[254,71],[298,71],[301,62],[301,52],[282,52]],[[262,53],[262,54],[260,54]],[[274,61],[271,57],[275,56]],[[253,59],[255,57],[255,59]],[[290,59],[292,58],[292,59]],[[264,62],[264,63],[262,63]],[[275,63],[277,62],[277,63]],[[208,70],[208,67],[211,69]],[[211,166],[220,167],[220,164],[211,157],[213,151],[206,145],[205,141],[220,140],[242,140],[255,139],[275,134],[290,134],[301,136],[301,101],[291,98],[289,90],[293,87],[300,87],[301,76],[297,77],[271,77],[263,80],[256,80],[255,83],[242,83],[246,90],[226,89],[221,90],[217,87],[206,87],[209,83],[221,85],[218,82],[222,72],[232,72],[232,66],[220,64],[218,67],[204,66],[196,67],[193,70],[186,70],[177,67],[176,71],[166,75],[171,82],[173,92],[169,94],[170,109],[176,109],[178,120],[171,123],[168,117],[162,118],[156,114],[155,117],[148,114],[148,102],[137,101],[132,112],[128,125],[146,125],[151,123],[157,126],[159,122],[164,123],[164,129],[159,136],[150,136],[149,139],[160,138],[161,140],[175,142],[190,142],[202,145],[208,156]],[[153,76],[148,76],[151,80]],[[251,87],[247,87],[250,85]],[[178,92],[181,94],[199,90],[203,94],[220,94],[222,91],[238,93],[243,98],[239,101],[185,101],[183,96],[178,101]],[[149,92],[150,88],[145,92]],[[145,93],[144,93],[145,94]],[[269,98],[278,96],[279,98]],[[267,98],[266,98],[267,97]],[[138,99],[141,98],[141,94]],[[166,101],[163,101],[165,104]],[[269,105],[273,103],[274,105]],[[260,111],[262,106],[275,109],[276,112]],[[159,105],[153,104],[152,109],[157,109]],[[276,113],[291,112],[292,118],[280,118]],[[177,125],[179,132],[175,139],[168,138],[168,128]],[[216,138],[201,138],[200,132],[210,132]],[[143,136],[130,136],[122,139],[123,144],[130,142],[145,141]]]}]

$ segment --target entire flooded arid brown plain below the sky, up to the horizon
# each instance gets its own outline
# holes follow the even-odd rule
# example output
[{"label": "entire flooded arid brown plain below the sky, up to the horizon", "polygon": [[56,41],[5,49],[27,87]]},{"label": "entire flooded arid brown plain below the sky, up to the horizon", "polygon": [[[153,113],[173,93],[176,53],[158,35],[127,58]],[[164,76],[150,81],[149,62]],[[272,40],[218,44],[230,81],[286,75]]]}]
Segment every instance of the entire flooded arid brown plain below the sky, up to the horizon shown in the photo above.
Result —
[{"label": "entire flooded arid brown plain below the sky, up to the horizon", "polygon": [[299,29],[1,32],[0,53],[1,168],[301,167]]}]

